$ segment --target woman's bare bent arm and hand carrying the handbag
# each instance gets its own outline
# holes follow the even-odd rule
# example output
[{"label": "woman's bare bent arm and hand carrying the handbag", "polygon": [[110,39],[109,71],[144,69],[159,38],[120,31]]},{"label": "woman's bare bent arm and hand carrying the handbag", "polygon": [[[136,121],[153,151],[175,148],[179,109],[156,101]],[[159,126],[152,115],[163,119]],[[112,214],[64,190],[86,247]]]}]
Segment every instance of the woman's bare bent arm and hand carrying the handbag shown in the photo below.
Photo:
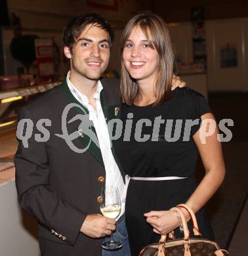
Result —
[{"label": "woman's bare bent arm and hand carrying the handbag", "polygon": [[[215,194],[225,175],[222,148],[217,140],[218,126],[213,114],[208,113],[201,116],[202,121],[207,121],[207,119],[211,119],[212,124],[216,125],[215,132],[211,136],[203,138],[205,133],[209,131],[209,126],[201,125],[193,136],[205,167],[205,176],[186,202],[194,213],[199,211]],[[186,219],[189,220],[190,216],[186,209],[182,209],[182,211],[185,213]],[[154,232],[158,234],[168,234],[180,225],[180,221],[178,221],[173,211],[150,211],[145,213],[144,216],[147,217],[146,221],[154,227]]]}]

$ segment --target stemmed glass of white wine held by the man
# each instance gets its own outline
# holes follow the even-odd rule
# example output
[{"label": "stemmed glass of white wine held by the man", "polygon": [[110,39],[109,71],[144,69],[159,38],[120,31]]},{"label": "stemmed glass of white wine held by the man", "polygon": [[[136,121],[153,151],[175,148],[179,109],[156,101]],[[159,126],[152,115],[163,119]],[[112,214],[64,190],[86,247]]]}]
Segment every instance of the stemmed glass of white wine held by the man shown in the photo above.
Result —
[{"label": "stemmed glass of white wine held by the man", "polygon": [[[115,219],[121,213],[121,200],[119,191],[113,186],[104,186],[102,188],[102,203],[100,205],[102,215]],[[109,241],[102,243],[102,248],[108,251],[114,251],[122,247],[121,242],[113,239],[113,232]]]}]

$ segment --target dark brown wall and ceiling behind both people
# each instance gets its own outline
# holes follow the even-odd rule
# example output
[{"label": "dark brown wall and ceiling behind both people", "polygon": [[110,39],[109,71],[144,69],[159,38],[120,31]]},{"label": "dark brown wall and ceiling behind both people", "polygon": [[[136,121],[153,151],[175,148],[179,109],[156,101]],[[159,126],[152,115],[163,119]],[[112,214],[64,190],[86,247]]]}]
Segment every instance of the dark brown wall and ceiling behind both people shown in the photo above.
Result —
[{"label": "dark brown wall and ceiling behind both people", "polygon": [[[119,71],[119,36],[127,20],[136,12],[150,10],[161,15],[166,22],[176,22],[171,26],[171,35],[175,41],[178,58],[190,63],[192,53],[191,9],[205,7],[207,36],[207,83],[209,91],[247,91],[248,81],[245,75],[248,63],[248,0],[114,0],[112,10],[94,7],[92,3],[102,1],[83,0],[7,0],[9,13],[15,12],[22,20],[23,33],[35,33],[41,37],[53,37],[60,47],[60,74],[64,76],[68,68],[64,65],[62,54],[62,29],[71,16],[81,12],[97,11],[110,21],[117,35],[112,51],[109,72]],[[103,1],[105,2],[105,1]],[[213,20],[215,19],[215,20]],[[16,74],[20,66],[12,59],[8,49],[13,32],[4,28],[3,45],[5,48],[5,74]],[[220,47],[225,43],[234,43],[238,50],[237,68],[220,68]],[[118,57],[117,57],[118,56]]]}]

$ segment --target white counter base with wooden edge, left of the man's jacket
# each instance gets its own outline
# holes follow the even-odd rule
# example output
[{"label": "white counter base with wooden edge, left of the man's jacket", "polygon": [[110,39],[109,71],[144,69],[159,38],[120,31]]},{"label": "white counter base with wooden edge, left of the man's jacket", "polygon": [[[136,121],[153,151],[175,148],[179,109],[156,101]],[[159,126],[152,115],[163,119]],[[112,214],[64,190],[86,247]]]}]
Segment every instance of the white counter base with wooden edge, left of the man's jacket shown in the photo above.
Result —
[{"label": "white counter base with wooden edge, left of the man's jacket", "polygon": [[10,159],[0,159],[0,205],[0,255],[40,256],[37,223],[20,210]]}]

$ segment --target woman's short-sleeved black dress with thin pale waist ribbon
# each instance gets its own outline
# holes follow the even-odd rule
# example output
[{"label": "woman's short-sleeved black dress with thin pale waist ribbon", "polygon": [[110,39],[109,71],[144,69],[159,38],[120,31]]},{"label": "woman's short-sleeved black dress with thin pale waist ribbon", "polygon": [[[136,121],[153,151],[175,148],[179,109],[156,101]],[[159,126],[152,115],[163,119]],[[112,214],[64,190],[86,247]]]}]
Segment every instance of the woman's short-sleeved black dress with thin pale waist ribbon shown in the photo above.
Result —
[{"label": "woman's short-sleeved black dress with thin pale waist ribbon", "polygon": [[[143,214],[185,203],[194,192],[199,152],[192,136],[200,127],[201,116],[209,112],[205,98],[186,87],[175,89],[170,100],[156,107],[123,104],[123,133],[115,142],[115,152],[125,173],[130,177],[188,177],[173,181],[130,181],[125,215],[133,256],[145,245],[159,241],[159,235],[152,231]],[[198,124],[188,129],[190,120]],[[132,127],[131,133],[128,127]],[[203,237],[214,240],[202,209],[196,217]],[[175,235],[182,236],[179,228]]]}]

